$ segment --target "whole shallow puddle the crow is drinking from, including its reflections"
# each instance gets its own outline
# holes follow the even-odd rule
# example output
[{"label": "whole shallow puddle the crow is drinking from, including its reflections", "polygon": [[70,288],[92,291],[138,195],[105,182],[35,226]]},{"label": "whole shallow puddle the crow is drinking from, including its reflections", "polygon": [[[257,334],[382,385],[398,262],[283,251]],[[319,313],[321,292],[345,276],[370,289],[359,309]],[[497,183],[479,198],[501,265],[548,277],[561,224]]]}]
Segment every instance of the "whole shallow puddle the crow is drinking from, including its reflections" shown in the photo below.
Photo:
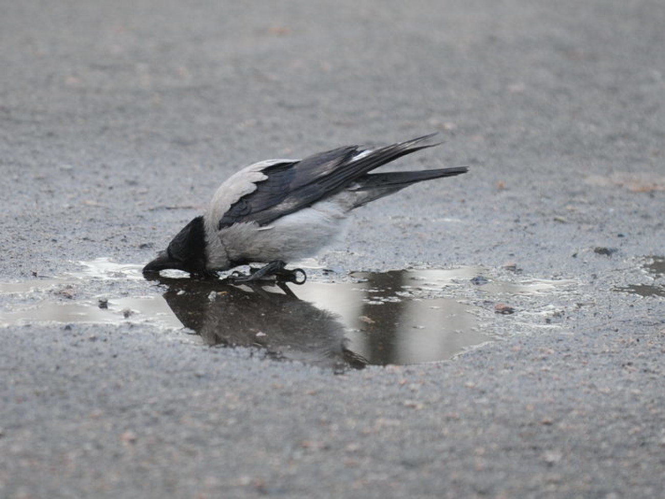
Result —
[{"label": "whole shallow puddle the crow is drinking from, including its reflections", "polygon": [[[573,281],[488,279],[481,267],[353,273],[350,281],[287,287],[226,285],[160,277],[162,295],[76,299],[69,287],[95,279],[143,279],[140,265],[80,262],[62,277],[0,283],[0,325],[147,323],[187,327],[210,346],[258,347],[267,357],[334,367],[442,361],[495,339],[493,303],[548,297]],[[328,279],[317,275],[319,279]],[[29,303],[26,303],[29,302]],[[545,311],[546,314],[551,314]],[[551,323],[543,321],[543,326]]]}]

